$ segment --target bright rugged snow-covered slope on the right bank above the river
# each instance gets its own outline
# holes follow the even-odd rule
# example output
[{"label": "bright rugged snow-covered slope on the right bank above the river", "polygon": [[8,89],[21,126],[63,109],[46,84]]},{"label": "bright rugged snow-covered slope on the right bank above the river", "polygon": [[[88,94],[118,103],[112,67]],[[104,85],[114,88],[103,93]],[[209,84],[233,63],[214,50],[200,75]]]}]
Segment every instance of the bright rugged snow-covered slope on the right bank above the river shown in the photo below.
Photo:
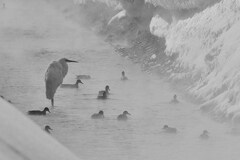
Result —
[{"label": "bright rugged snow-covered slope on the right bank above the river", "polygon": [[[166,38],[166,53],[178,54],[174,79],[196,78],[188,91],[204,99],[203,109],[222,118],[240,113],[240,1],[223,0],[194,17],[168,25],[159,17],[153,34]],[[200,78],[199,78],[200,77]]]}]

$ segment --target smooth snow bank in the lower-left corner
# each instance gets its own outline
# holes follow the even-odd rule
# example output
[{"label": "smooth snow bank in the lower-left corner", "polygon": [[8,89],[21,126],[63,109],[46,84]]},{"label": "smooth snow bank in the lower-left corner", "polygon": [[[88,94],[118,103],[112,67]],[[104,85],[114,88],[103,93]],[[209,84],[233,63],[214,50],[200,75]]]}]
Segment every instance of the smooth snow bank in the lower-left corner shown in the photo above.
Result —
[{"label": "smooth snow bank in the lower-left corner", "polygon": [[0,159],[78,159],[67,148],[1,98],[0,106]]}]

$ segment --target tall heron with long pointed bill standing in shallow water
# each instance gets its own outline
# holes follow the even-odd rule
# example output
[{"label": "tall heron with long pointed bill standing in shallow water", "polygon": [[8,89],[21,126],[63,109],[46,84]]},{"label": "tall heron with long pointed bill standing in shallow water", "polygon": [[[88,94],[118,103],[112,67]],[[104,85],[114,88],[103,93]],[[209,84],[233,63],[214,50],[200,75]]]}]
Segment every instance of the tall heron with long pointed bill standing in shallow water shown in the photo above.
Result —
[{"label": "tall heron with long pointed bill standing in shallow water", "polygon": [[46,71],[46,97],[51,100],[52,106],[54,106],[54,94],[57,88],[62,84],[63,78],[67,75],[68,62],[78,63],[77,61],[62,58],[59,61],[53,61]]}]

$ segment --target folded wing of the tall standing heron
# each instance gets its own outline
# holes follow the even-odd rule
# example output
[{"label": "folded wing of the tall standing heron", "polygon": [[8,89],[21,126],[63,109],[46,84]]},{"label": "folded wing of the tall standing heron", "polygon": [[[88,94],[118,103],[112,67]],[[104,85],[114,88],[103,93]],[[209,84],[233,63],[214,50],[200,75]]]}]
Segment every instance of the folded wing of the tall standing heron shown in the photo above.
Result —
[{"label": "folded wing of the tall standing heron", "polygon": [[53,62],[45,74],[46,97],[52,99],[60,84],[63,82],[62,66],[58,62]]}]

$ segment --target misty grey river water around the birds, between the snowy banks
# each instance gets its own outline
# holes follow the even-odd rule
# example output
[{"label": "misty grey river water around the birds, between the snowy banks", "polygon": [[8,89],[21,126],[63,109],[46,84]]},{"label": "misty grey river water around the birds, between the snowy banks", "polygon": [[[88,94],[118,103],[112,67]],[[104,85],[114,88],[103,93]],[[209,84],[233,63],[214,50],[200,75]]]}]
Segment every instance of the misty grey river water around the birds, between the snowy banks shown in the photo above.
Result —
[{"label": "misty grey river water around the birds, between the snowy banks", "polygon": [[[37,7],[36,7],[37,6]],[[115,52],[111,45],[85,26],[64,17],[47,1],[9,0],[0,10],[0,95],[39,127],[50,125],[51,136],[83,160],[238,160],[240,136],[229,123],[202,115],[200,106],[176,92],[161,76],[141,70]],[[58,88],[55,106],[45,96],[45,72],[60,58],[69,64],[63,83],[79,88]],[[129,80],[121,81],[125,71]],[[110,86],[106,100],[98,91]],[[169,103],[174,94],[180,103]],[[46,116],[29,116],[28,110],[49,107]],[[91,115],[103,110],[105,118]],[[117,116],[127,110],[127,121]],[[14,115],[9,115],[14,116]],[[164,133],[167,124],[177,134]],[[24,124],[22,124],[24,125]],[[210,138],[199,135],[209,131]]]}]

